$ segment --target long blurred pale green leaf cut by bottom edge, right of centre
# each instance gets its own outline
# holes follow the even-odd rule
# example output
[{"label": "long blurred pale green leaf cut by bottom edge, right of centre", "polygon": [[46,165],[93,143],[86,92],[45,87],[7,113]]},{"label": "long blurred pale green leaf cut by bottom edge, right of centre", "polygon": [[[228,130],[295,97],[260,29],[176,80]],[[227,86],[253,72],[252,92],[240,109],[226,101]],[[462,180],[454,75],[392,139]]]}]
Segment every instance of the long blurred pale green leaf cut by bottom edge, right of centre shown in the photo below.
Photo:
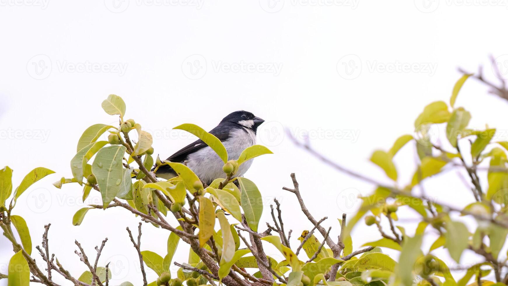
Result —
[{"label": "long blurred pale green leaf cut by bottom edge, right of centre", "polygon": [[402,250],[400,251],[398,264],[398,275],[401,282],[405,286],[411,286],[413,282],[412,270],[414,269],[415,262],[422,256],[422,236],[415,235],[415,237],[405,237],[402,244]]}]

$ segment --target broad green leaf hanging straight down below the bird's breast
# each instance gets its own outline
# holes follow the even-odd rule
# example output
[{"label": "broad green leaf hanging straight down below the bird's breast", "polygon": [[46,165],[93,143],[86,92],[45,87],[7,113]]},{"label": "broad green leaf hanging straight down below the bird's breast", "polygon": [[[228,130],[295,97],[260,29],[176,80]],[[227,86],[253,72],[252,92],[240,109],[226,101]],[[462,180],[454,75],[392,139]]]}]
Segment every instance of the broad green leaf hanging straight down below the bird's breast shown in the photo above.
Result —
[{"label": "broad green leaf hanging straight down below the bird's breast", "polygon": [[242,209],[251,230],[258,232],[259,220],[263,214],[263,198],[258,187],[251,180],[238,177],[241,192]]}]

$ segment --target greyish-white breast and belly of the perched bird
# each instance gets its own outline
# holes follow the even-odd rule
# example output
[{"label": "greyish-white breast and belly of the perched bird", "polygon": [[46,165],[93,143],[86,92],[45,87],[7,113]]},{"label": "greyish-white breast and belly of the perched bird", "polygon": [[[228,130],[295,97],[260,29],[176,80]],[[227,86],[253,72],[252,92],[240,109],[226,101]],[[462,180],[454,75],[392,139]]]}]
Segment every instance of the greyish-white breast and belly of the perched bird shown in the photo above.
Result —
[{"label": "greyish-white breast and belly of the perched bird", "polygon": [[[256,144],[256,134],[249,129],[236,129],[229,134],[228,140],[223,142],[228,151],[228,160],[237,160],[242,151]],[[187,167],[193,170],[198,177],[210,183],[216,178],[226,178],[224,162],[210,147],[204,147],[187,157]],[[243,176],[252,164],[252,160],[243,163],[235,176]]]}]

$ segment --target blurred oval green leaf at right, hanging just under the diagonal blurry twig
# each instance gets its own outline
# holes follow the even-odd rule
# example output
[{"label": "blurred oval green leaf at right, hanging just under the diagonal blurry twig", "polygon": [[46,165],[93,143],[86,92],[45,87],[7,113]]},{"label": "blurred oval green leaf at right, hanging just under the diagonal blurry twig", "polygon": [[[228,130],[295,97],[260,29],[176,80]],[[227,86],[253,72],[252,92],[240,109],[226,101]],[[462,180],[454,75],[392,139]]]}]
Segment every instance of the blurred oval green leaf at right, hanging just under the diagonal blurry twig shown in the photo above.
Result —
[{"label": "blurred oval green leaf at right, hanging just under the diagonal blurry twig", "polygon": [[469,231],[466,226],[459,221],[449,221],[447,224],[447,232],[445,235],[446,242],[444,246],[448,248],[450,256],[457,262],[460,262],[462,251],[469,244]]}]

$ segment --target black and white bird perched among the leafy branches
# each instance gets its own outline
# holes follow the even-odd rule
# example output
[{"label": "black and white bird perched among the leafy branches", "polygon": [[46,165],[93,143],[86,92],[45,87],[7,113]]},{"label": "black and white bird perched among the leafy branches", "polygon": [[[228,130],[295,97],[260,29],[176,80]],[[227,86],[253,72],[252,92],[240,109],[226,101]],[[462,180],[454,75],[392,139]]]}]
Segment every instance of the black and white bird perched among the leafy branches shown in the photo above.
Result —
[{"label": "black and white bird perched among the leafy branches", "polygon": [[[256,131],[263,122],[265,120],[250,112],[235,111],[224,117],[209,133],[224,144],[229,160],[237,160],[245,148],[256,144]],[[223,171],[224,162],[201,139],[180,149],[167,160],[178,163],[187,161],[187,167],[193,170],[206,184],[210,184],[216,178],[226,178]],[[251,164],[252,160],[249,160],[240,165],[235,176],[240,177],[245,174]],[[164,179],[177,176],[176,172],[168,165],[159,167],[155,175]]]}]

